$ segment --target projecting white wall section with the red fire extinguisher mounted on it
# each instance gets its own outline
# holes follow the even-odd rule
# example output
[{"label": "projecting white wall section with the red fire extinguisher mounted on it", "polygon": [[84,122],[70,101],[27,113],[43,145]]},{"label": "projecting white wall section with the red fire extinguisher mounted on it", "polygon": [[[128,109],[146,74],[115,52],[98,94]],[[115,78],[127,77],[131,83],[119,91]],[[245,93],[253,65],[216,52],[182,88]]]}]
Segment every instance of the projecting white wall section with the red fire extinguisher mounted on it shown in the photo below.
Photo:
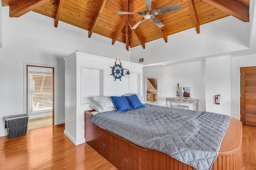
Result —
[{"label": "projecting white wall section with the red fire extinguisher mounted on it", "polygon": [[[231,57],[206,59],[206,111],[231,116]],[[220,94],[220,105],[214,96]]]}]

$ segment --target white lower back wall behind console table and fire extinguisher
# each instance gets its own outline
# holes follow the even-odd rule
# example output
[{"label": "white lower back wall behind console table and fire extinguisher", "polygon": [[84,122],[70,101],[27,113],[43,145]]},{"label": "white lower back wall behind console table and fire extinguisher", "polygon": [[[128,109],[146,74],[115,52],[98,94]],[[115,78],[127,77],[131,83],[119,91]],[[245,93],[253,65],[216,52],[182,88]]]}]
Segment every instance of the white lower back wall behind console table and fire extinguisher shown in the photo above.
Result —
[{"label": "white lower back wall behind console table and fire extinguisher", "polygon": [[[222,113],[240,120],[240,67],[248,66],[256,66],[256,54],[144,67],[143,75],[144,79],[146,76],[158,76],[160,106],[165,106],[166,97],[176,96],[179,83],[180,86],[191,86],[191,97],[199,99],[199,111]],[[216,94],[221,94],[220,105],[214,104]],[[143,95],[145,97],[145,92]],[[192,109],[192,106],[189,107]]]}]

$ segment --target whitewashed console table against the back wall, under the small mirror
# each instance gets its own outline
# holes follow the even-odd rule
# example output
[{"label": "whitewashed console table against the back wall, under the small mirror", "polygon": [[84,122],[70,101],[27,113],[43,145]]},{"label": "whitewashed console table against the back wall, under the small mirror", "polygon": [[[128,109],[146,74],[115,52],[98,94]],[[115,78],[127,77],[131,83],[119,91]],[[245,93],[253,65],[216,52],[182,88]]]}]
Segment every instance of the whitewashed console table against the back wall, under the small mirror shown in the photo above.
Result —
[{"label": "whitewashed console table against the back wall, under the small mirror", "polygon": [[198,111],[198,99],[184,97],[168,97],[166,98],[166,107],[168,107],[168,102],[170,102],[170,107],[172,107],[172,102],[191,103],[193,104],[193,110]]}]

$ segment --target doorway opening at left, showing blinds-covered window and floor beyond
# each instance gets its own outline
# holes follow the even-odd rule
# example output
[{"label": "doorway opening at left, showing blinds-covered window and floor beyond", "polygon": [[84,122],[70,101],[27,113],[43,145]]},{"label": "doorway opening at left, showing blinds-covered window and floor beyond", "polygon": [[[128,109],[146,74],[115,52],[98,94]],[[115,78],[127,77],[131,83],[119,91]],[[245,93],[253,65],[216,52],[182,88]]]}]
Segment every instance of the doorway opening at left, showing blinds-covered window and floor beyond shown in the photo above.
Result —
[{"label": "doorway opening at left, showing blinds-covered window and floor beyond", "polygon": [[54,68],[27,65],[28,129],[54,125]]}]

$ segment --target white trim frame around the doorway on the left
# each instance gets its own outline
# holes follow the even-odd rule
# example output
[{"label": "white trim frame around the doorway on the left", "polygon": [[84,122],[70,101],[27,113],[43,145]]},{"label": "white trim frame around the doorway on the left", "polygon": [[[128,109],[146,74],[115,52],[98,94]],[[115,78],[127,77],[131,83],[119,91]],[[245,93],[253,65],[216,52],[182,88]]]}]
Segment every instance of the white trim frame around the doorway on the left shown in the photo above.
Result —
[{"label": "white trim frame around the doorway on the left", "polygon": [[52,109],[52,125],[58,125],[58,115],[57,112],[57,66],[47,65],[47,64],[35,64],[35,63],[23,63],[23,113],[27,113],[27,66],[37,66],[37,67],[46,67],[53,68],[54,76],[54,89],[53,89],[53,109]]}]

